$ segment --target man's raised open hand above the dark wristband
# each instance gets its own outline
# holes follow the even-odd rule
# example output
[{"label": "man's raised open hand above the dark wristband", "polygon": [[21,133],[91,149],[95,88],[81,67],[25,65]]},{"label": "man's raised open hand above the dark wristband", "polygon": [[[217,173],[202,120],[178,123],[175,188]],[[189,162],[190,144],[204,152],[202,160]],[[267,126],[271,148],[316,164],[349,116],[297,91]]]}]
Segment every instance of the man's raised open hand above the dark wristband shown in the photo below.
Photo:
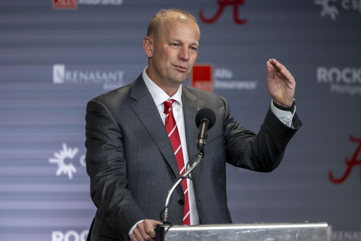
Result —
[{"label": "man's raised open hand above the dark wristband", "polygon": [[267,65],[267,85],[273,101],[282,106],[292,106],[296,81],[291,72],[275,59],[269,59]]}]

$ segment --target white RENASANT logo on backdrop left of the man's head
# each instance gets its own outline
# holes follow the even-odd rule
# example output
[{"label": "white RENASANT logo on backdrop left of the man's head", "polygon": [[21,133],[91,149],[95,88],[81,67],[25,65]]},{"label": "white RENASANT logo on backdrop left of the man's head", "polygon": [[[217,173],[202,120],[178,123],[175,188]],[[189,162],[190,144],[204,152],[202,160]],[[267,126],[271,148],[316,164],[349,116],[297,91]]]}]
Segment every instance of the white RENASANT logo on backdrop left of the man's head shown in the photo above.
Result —
[{"label": "white RENASANT logo on backdrop left of the man's head", "polygon": [[104,90],[123,86],[124,71],[68,70],[64,64],[53,65],[53,84],[103,84]]}]

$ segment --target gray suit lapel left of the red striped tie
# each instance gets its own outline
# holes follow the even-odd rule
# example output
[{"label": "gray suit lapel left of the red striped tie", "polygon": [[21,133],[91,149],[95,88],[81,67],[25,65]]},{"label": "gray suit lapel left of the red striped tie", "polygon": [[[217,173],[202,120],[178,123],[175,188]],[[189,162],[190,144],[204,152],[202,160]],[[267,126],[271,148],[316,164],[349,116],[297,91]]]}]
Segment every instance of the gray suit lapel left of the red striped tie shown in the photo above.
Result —
[{"label": "gray suit lapel left of the red striped tie", "polygon": [[142,75],[132,83],[130,97],[136,100],[131,104],[131,108],[148,131],[175,176],[179,177],[177,160],[175,159],[168,134]]}]

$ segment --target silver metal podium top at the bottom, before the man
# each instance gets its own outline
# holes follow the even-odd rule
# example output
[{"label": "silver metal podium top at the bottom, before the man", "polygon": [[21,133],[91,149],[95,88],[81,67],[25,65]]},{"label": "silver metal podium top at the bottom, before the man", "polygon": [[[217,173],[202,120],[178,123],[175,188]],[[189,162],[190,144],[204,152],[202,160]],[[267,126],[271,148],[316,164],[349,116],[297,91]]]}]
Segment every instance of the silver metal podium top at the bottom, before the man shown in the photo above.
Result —
[{"label": "silver metal podium top at the bottom, before the man", "polygon": [[327,223],[162,224],[156,233],[156,241],[327,241]]}]

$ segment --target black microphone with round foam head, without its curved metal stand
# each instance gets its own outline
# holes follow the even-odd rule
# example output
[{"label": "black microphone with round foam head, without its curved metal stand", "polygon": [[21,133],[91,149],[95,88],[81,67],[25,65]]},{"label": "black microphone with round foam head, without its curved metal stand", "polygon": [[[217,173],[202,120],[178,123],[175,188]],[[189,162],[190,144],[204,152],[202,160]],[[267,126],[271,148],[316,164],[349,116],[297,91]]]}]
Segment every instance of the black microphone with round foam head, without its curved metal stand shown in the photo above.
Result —
[{"label": "black microphone with round foam head, without its curved metal stand", "polygon": [[199,128],[197,147],[200,151],[207,139],[207,131],[216,123],[216,114],[213,110],[204,108],[201,109],[196,115],[196,126]]}]

